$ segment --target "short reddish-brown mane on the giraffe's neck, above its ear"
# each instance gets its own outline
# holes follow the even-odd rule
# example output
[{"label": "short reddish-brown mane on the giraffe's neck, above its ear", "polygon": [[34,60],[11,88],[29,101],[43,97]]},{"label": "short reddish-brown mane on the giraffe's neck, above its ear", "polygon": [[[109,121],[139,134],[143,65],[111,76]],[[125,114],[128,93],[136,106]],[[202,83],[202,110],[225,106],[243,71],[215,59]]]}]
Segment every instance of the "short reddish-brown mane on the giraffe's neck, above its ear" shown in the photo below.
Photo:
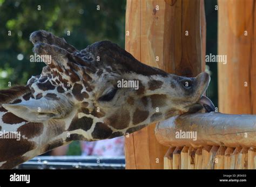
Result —
[{"label": "short reddish-brown mane on the giraffe's neck, above its ear", "polygon": [[9,89],[0,90],[0,106],[4,103],[10,103],[20,96],[30,94],[31,89],[26,86],[14,86]]}]

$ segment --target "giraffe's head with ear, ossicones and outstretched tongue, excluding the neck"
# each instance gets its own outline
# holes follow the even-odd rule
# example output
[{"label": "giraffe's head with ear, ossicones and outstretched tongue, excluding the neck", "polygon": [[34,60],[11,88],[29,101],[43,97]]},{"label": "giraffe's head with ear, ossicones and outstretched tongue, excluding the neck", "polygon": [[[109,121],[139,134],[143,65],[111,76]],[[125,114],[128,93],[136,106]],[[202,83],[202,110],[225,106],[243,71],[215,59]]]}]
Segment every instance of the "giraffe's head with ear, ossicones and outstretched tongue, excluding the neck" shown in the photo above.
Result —
[{"label": "giraffe's head with ear, ossicones and outstretched tongue, excluding the neck", "polygon": [[46,66],[28,81],[30,100],[3,105],[25,120],[64,120],[70,123],[66,130],[78,130],[83,140],[100,140],[174,115],[214,110],[202,96],[210,82],[207,73],[168,74],[110,41],[78,51],[46,31],[33,32],[30,40]]}]

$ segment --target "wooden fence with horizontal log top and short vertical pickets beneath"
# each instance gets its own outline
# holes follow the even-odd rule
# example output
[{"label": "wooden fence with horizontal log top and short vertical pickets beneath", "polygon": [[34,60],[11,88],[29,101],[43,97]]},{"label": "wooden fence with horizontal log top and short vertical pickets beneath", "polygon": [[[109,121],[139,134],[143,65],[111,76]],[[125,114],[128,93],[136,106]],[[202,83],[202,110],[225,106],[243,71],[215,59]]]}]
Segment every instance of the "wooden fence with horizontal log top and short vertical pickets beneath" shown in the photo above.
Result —
[{"label": "wooden fence with horizontal log top and short vertical pickets beneath", "polygon": [[165,169],[256,169],[256,115],[197,113],[157,124]]}]

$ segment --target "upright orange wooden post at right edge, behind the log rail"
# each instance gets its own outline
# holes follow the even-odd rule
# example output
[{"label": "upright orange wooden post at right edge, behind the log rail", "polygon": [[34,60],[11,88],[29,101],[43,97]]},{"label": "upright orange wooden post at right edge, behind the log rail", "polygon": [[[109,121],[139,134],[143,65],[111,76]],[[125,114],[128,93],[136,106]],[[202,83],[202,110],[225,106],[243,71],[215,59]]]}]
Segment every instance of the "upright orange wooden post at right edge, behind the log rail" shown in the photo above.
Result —
[{"label": "upright orange wooden post at right edge, behind the log rail", "polygon": [[219,112],[256,114],[255,25],[255,1],[218,1]]}]

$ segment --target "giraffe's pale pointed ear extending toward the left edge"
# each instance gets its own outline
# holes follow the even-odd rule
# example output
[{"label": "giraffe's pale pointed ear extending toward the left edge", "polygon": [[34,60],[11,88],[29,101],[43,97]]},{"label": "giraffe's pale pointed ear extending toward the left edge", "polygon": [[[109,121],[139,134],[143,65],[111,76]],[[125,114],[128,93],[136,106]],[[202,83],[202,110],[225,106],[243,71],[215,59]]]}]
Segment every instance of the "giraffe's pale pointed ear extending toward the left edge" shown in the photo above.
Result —
[{"label": "giraffe's pale pointed ear extending toward the left edge", "polygon": [[64,117],[72,110],[68,100],[31,99],[16,104],[3,104],[6,110],[30,122],[44,122]]}]

